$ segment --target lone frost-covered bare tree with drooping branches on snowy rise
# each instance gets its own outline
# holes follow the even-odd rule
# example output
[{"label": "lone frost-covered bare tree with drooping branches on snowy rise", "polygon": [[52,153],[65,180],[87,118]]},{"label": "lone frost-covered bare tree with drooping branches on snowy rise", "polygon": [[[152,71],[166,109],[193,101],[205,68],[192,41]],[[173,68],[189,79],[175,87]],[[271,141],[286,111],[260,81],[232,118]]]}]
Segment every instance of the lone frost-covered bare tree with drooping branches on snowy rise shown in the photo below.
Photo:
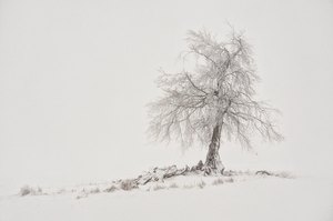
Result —
[{"label": "lone frost-covered bare tree with drooping branches on snowy rise", "polygon": [[223,173],[221,137],[245,148],[251,148],[253,132],[280,140],[271,119],[276,110],[255,100],[259,77],[243,34],[232,31],[220,41],[206,31],[189,31],[186,41],[184,58],[195,67],[173,74],[161,70],[158,86],[164,94],[149,104],[149,133],[159,141],[180,140],[183,147],[201,141],[209,145],[204,171]]}]

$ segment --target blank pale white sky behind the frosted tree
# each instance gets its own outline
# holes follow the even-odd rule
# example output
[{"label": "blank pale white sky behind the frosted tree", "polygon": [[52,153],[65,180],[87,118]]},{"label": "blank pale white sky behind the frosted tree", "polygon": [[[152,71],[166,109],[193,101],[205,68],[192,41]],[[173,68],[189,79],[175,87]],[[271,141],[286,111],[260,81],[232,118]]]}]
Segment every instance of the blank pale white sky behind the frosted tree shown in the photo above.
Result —
[{"label": "blank pale white sky behind the frosted tree", "polygon": [[[261,98],[285,141],[222,145],[226,169],[333,168],[333,1],[0,0],[0,182],[56,183],[193,164],[205,150],[151,144],[145,104],[186,30],[253,44]],[[265,149],[264,149],[265,148]]]}]

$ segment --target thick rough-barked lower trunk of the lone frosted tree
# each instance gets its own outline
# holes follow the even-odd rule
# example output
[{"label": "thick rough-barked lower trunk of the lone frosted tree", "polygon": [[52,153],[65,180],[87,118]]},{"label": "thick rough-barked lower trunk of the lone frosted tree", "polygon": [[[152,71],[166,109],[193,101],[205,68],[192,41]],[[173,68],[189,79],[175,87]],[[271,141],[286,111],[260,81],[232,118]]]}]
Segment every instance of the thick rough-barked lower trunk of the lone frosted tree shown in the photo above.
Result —
[{"label": "thick rough-barked lower trunk of the lone frosted tree", "polygon": [[221,138],[222,125],[216,124],[213,130],[213,135],[211,143],[209,145],[209,152],[206,154],[204,171],[206,174],[212,173],[223,173],[224,165],[220,159],[219,149],[220,149],[220,138]]}]

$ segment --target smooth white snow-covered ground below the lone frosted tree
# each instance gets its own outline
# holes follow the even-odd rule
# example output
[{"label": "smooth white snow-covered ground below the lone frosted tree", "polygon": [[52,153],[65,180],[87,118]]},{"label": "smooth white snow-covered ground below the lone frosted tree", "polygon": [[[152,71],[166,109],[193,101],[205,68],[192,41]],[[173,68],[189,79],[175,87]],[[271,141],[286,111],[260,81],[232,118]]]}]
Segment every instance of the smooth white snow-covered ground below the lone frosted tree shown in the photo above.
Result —
[{"label": "smooth white snow-covered ground below the lone frosted tree", "polygon": [[[223,183],[216,180],[221,179],[179,177],[131,191],[104,192],[108,183],[97,183],[43,189],[41,195],[7,194],[0,198],[0,220],[333,220],[330,179],[241,175],[222,178]],[[91,191],[95,189],[100,192]]]}]

